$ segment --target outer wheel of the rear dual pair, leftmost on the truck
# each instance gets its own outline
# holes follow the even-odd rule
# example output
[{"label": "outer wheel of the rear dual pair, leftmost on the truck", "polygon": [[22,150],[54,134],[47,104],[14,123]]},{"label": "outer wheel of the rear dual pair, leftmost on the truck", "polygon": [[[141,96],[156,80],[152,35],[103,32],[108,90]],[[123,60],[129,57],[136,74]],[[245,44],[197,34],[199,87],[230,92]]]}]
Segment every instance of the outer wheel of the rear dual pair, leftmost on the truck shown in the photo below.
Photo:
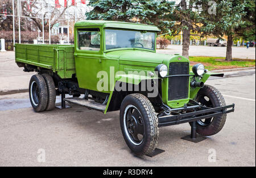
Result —
[{"label": "outer wheel of the rear dual pair, leftmost on the truck", "polygon": [[46,110],[48,101],[47,85],[44,77],[40,74],[36,74],[30,79],[30,102],[36,112]]}]

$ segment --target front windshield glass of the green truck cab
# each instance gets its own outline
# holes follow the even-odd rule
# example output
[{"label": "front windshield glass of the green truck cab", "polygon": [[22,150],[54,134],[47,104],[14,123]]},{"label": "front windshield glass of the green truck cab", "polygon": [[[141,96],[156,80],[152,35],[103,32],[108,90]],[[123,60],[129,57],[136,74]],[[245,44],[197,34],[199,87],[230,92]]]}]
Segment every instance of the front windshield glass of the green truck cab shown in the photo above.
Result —
[{"label": "front windshield glass of the green truck cab", "polygon": [[155,32],[105,30],[106,49],[144,48],[155,50]]}]

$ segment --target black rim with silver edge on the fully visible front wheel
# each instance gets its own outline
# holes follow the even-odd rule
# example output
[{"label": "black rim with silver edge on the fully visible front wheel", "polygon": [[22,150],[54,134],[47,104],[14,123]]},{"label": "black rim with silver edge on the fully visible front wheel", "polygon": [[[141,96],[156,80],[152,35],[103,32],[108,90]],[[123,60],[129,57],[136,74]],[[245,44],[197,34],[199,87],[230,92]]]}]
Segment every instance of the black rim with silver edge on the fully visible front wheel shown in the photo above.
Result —
[{"label": "black rim with silver edge on the fully visible front wheel", "polygon": [[144,139],[144,122],[137,107],[128,105],[123,116],[123,125],[131,143],[139,145]]}]

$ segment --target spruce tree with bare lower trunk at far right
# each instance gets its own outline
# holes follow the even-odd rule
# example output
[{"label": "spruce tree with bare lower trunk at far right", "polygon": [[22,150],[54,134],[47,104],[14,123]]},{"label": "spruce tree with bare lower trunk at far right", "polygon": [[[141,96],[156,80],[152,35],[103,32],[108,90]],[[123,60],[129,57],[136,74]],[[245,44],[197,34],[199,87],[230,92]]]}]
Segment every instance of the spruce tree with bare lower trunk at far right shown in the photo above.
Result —
[{"label": "spruce tree with bare lower trunk at far right", "polygon": [[232,60],[233,37],[237,28],[245,24],[243,17],[246,14],[244,11],[246,1],[219,0],[210,7],[208,1],[202,2],[203,9],[213,8],[215,11],[215,13],[206,10],[201,12],[201,23],[204,24],[202,30],[220,38],[224,35],[228,36],[225,60]]}]

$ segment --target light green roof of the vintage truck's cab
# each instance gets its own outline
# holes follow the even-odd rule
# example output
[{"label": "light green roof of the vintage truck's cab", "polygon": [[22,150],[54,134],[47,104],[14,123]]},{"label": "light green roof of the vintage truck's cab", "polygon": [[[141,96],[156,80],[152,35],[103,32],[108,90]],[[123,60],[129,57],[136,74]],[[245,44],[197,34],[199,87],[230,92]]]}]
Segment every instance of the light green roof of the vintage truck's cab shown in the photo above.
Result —
[{"label": "light green roof of the vintage truck's cab", "polygon": [[108,20],[85,20],[76,22],[75,27],[102,26],[103,28],[125,28],[130,30],[160,31],[158,27],[141,23],[116,22]]}]

